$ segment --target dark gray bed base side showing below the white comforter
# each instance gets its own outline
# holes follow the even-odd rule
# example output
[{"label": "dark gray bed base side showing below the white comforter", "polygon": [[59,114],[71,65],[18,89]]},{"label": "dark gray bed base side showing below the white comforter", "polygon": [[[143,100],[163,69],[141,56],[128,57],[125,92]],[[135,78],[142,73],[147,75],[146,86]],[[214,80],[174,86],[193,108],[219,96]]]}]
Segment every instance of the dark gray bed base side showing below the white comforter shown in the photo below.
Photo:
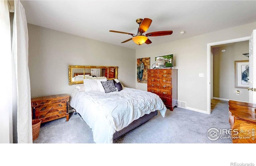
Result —
[{"label": "dark gray bed base side showing below the white comforter", "polygon": [[114,135],[113,135],[113,142],[115,139],[118,139],[122,135],[128,133],[129,131],[132,131],[133,129],[142,125],[143,123],[145,123],[146,121],[148,121],[149,119],[151,119],[152,117],[154,117],[156,115],[158,115],[157,110],[154,112],[151,112],[149,114],[145,114],[144,116],[140,117],[139,119],[134,120],[132,123],[130,123],[130,125],[124,127],[124,129],[122,129],[120,131],[116,131],[116,133],[114,133]]}]

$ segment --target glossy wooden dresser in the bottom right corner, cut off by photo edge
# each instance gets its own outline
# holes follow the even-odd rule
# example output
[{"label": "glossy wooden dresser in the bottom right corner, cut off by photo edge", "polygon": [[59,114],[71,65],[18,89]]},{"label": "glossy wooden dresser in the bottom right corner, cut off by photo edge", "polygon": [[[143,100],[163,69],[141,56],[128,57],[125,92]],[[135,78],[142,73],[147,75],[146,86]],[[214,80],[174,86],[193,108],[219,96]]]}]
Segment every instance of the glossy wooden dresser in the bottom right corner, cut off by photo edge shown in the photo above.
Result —
[{"label": "glossy wooden dresser in the bottom right corner, cut off by photo edge", "polygon": [[233,143],[256,143],[256,104],[230,100],[229,123]]}]

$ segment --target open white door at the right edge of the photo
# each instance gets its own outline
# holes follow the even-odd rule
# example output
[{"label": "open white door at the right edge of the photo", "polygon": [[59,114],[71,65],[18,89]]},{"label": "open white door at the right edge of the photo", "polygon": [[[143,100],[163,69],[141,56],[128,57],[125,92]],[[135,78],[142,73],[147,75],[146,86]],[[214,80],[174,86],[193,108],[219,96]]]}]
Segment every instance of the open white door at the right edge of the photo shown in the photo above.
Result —
[{"label": "open white door at the right edge of the photo", "polygon": [[256,104],[256,29],[252,31],[252,35],[249,40],[249,103]]}]

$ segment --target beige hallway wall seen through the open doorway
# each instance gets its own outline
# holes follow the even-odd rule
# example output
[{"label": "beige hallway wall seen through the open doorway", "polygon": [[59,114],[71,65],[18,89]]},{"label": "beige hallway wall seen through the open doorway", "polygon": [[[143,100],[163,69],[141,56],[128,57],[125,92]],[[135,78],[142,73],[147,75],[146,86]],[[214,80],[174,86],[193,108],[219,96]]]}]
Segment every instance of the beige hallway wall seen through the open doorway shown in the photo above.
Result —
[{"label": "beige hallway wall seen through the open doorway", "polygon": [[[221,50],[225,49],[225,52]],[[249,102],[248,90],[235,88],[234,61],[249,60],[249,41],[235,42],[231,45],[215,47],[213,53],[213,97],[225,100]],[[236,95],[239,90],[240,94]]]}]

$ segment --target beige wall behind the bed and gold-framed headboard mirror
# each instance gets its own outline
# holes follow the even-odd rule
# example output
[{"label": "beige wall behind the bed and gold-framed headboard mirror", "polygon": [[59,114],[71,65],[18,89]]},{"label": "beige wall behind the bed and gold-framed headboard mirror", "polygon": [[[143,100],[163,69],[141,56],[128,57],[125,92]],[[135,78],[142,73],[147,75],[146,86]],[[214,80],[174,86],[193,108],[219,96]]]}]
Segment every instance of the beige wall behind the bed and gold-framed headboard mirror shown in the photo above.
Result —
[{"label": "beige wall behind the bed and gold-framed headboard mirror", "polygon": [[135,50],[28,24],[31,97],[72,94],[68,65],[118,66],[118,79],[135,88]]}]

